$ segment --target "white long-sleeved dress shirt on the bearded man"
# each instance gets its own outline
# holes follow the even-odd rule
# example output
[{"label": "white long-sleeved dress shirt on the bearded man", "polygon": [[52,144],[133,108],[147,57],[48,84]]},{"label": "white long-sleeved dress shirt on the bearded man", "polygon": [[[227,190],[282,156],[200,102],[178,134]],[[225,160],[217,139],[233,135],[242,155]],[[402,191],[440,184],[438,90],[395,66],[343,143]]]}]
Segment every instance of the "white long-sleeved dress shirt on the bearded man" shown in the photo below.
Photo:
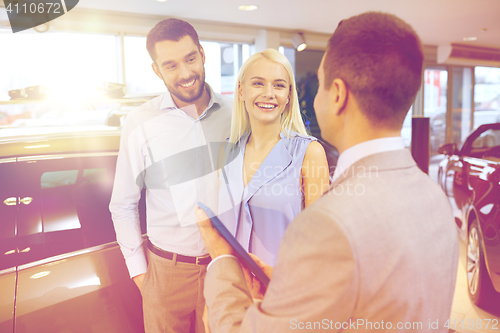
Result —
[{"label": "white long-sleeved dress shirt on the bearded man", "polygon": [[147,270],[138,213],[143,187],[149,240],[182,255],[207,253],[194,207],[201,201],[217,211],[218,153],[229,136],[232,112],[230,98],[209,90],[208,107],[196,119],[177,108],[167,92],[125,120],[110,211],[131,277]]}]

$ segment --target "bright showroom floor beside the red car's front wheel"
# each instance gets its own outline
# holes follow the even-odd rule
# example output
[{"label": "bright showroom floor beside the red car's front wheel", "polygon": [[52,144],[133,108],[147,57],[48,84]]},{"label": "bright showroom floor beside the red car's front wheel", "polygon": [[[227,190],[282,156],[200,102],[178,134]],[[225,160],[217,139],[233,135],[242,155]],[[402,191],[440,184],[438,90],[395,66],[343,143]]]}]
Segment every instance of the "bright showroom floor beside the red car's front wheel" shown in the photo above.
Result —
[{"label": "bright showroom floor beside the red car's front wheel", "polygon": [[[431,158],[429,176],[436,181],[440,159]],[[488,309],[480,309],[469,299],[465,265],[466,244],[459,238],[460,259],[458,262],[457,283],[450,316],[449,332],[460,333],[500,333],[500,297]],[[488,320],[489,319],[489,320]],[[496,320],[496,321],[495,321]],[[456,324],[455,324],[456,323]],[[489,323],[488,328],[486,325]],[[496,325],[495,325],[496,324]],[[456,325],[456,326],[455,326]],[[481,326],[481,328],[479,328]]]}]

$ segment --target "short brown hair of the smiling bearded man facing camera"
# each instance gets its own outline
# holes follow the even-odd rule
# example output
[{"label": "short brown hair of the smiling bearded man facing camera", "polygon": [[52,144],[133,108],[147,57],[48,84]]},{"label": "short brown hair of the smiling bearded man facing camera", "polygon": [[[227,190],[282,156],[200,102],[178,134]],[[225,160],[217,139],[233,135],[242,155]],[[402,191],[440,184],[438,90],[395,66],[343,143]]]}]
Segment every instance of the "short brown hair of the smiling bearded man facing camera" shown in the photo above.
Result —
[{"label": "short brown hair of the smiling bearded man facing camera", "polygon": [[200,48],[200,39],[193,26],[186,21],[170,18],[158,22],[148,33],[146,48],[153,61],[156,61],[155,44],[164,40],[178,42],[184,36],[189,36],[193,43]]}]

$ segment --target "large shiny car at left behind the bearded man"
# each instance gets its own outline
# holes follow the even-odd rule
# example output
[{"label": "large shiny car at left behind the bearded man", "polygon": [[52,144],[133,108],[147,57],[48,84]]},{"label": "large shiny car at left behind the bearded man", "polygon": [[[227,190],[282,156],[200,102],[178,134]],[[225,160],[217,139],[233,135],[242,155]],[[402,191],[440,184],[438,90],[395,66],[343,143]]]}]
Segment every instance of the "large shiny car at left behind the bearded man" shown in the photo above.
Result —
[{"label": "large shiny car at left behind the bearded man", "polygon": [[0,332],[144,331],[108,209],[119,142],[104,126],[0,129]]}]

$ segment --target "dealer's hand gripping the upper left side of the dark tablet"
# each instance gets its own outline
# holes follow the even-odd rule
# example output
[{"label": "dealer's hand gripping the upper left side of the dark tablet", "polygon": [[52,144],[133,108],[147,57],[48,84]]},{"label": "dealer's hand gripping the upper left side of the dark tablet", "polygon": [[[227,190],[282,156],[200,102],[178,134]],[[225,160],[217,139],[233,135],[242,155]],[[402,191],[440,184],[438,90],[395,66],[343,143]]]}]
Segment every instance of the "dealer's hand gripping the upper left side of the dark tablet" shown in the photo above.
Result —
[{"label": "dealer's hand gripping the upper left side of the dark tablet", "polygon": [[212,260],[223,254],[234,255],[233,248],[213,227],[205,211],[197,206],[195,207],[195,213],[196,219],[200,221],[197,223],[198,230],[200,230],[201,238],[203,238]]}]

